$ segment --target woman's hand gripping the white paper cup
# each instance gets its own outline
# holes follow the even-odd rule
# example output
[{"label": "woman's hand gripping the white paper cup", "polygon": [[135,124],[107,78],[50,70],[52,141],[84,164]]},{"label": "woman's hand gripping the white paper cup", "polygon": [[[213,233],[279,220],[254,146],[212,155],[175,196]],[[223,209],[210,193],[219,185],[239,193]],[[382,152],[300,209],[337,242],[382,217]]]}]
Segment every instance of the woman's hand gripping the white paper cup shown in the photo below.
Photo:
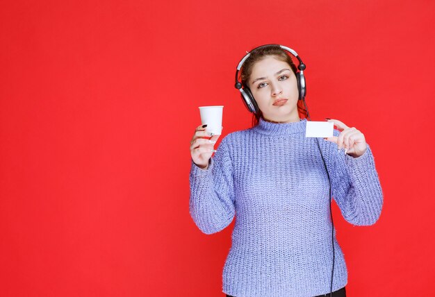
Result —
[{"label": "woman's hand gripping the white paper cup", "polygon": [[198,126],[190,141],[190,155],[193,162],[201,169],[207,169],[208,161],[215,152],[214,145],[220,137],[220,135],[206,133],[205,127],[206,125]]}]

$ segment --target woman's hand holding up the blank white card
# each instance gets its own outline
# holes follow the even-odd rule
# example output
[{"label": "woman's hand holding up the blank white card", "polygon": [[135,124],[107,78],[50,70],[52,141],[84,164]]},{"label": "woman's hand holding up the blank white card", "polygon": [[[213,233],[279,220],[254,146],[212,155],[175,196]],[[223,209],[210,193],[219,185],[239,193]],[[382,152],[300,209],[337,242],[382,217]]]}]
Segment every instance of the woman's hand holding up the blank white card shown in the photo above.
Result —
[{"label": "woman's hand holding up the blank white card", "polygon": [[345,148],[347,155],[357,158],[367,151],[367,142],[361,131],[356,130],[355,127],[349,128],[342,121],[338,119],[328,119],[327,121],[333,122],[334,126],[340,130],[340,135],[325,138],[329,142],[337,144],[338,148]]}]

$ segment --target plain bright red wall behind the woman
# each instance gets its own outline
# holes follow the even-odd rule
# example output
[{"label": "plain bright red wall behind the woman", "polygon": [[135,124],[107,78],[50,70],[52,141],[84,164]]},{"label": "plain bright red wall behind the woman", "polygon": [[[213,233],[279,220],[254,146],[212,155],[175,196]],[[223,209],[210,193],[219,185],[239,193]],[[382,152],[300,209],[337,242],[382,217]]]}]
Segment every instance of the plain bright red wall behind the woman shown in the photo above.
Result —
[{"label": "plain bright red wall behind the woman", "polygon": [[[295,49],[314,120],[372,146],[384,208],[334,204],[349,296],[435,294],[434,1],[8,1],[0,10],[0,296],[223,296],[233,223],[188,212],[200,105],[251,117],[245,51]],[[222,139],[222,138],[221,138]]]}]

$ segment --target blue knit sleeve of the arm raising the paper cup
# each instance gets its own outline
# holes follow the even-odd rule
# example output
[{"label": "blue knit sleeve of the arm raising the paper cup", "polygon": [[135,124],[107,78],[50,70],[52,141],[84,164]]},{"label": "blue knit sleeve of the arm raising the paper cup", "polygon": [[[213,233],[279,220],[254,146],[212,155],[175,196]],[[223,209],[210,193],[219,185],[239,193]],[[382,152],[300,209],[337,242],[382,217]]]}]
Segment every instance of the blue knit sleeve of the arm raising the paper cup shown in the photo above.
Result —
[{"label": "blue knit sleeve of the arm raising the paper cup", "polygon": [[205,234],[227,227],[235,214],[232,164],[227,139],[222,139],[207,169],[191,160],[189,211]]}]

